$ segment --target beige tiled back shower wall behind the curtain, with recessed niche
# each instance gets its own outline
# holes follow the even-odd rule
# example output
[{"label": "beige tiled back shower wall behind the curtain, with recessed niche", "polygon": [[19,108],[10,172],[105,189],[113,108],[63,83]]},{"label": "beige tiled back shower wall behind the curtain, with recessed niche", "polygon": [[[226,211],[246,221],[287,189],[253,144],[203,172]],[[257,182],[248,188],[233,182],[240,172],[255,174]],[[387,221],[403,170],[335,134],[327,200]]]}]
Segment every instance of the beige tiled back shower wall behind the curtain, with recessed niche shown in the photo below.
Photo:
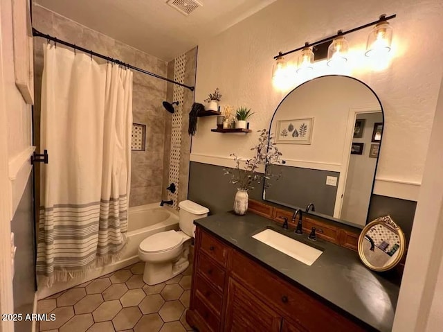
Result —
[{"label": "beige tiled back shower wall behind the curtain, with recessed niche", "polygon": [[[143,53],[131,46],[114,40],[107,35],[82,26],[71,19],[58,15],[41,6],[33,6],[33,26],[42,33],[52,35],[91,49],[111,58],[122,60],[136,67],[167,76],[167,63],[152,55]],[[39,150],[40,95],[43,71],[43,46],[46,40],[34,39],[35,70],[35,145]],[[62,47],[61,45],[57,47]],[[97,62],[102,60],[94,58]],[[195,67],[195,65],[194,65]],[[193,76],[194,77],[194,76]],[[192,94],[193,95],[193,94]],[[162,102],[166,98],[166,82],[134,71],[133,117],[134,123],[146,125],[146,150],[132,152],[132,181],[129,205],[143,205],[160,202],[163,183],[165,121],[170,125],[170,115],[166,114]],[[184,105],[183,105],[184,106]],[[167,149],[169,150],[169,148]],[[51,151],[49,151],[51,158]],[[37,168],[39,165],[37,164]],[[44,167],[44,166],[43,166]],[[39,170],[37,169],[37,174]],[[168,177],[166,177],[168,180]],[[39,181],[36,181],[39,192]],[[38,196],[38,195],[37,195]],[[166,197],[166,196],[165,196]],[[38,197],[37,197],[38,200]],[[39,202],[36,202],[39,204]],[[37,205],[39,206],[39,205]]]}]

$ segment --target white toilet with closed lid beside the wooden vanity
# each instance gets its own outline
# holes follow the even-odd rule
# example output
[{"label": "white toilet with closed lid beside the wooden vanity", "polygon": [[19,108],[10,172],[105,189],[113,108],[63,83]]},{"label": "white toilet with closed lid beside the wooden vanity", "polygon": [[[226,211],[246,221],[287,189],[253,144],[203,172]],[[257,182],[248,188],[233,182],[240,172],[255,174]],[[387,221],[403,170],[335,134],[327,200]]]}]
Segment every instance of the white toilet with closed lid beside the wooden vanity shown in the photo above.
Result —
[{"label": "white toilet with closed lid beside the wooden vanity", "polygon": [[161,231],[148,236],[138,247],[138,258],[145,262],[143,281],[148,285],[172,279],[189,266],[194,220],[208,216],[209,209],[190,200],[180,202],[179,208],[179,231]]}]

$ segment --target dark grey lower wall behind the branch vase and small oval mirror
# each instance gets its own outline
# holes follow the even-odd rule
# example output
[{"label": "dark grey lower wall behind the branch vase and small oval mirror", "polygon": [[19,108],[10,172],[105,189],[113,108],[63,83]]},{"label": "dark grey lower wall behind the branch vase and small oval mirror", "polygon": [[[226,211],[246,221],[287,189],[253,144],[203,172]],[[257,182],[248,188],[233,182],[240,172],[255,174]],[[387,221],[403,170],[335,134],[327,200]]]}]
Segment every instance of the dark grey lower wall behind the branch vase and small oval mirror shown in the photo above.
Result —
[{"label": "dark grey lower wall behind the branch vase and small oval mirror", "polygon": [[[229,183],[229,176],[224,175],[225,167],[190,162],[188,199],[210,209],[210,214],[233,209],[236,187]],[[249,192],[249,198],[262,201],[262,185]],[[372,195],[369,207],[369,220],[390,214],[403,229],[406,241],[409,241],[413,227],[417,202],[398,198]]]}]

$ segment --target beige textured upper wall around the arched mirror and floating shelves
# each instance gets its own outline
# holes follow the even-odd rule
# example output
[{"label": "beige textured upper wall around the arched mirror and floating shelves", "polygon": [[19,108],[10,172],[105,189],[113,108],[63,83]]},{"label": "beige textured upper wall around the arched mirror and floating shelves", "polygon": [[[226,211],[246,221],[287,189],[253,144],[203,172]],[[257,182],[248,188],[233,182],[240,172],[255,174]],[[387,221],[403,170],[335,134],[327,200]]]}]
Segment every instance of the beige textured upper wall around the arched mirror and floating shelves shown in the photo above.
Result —
[{"label": "beige textured upper wall around the arched mirror and floating shelves", "polygon": [[[199,45],[196,101],[219,87],[221,104],[247,105],[255,112],[252,129],[267,128],[285,92],[271,84],[273,56],[397,13],[394,58],[384,71],[356,67],[350,76],[366,82],[379,96],[386,116],[375,193],[416,200],[422,181],[437,91],[442,78],[442,1],[278,0],[224,33]],[[353,53],[364,53],[370,29],[347,35]],[[358,58],[357,60],[364,60]],[[288,57],[288,60],[293,58]],[[354,62],[355,64],[355,62]],[[318,71],[317,75],[330,73]],[[233,166],[228,156],[248,157],[257,134],[210,132],[214,121],[199,121],[191,160]]]}]

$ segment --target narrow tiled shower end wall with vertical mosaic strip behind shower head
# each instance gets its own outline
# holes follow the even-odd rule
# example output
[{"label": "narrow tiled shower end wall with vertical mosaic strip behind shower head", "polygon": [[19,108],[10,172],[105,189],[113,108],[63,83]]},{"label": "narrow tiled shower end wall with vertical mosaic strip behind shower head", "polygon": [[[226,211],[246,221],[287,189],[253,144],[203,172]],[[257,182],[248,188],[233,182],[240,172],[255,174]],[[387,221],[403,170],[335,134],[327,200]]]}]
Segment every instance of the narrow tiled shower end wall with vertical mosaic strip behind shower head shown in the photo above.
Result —
[{"label": "narrow tiled shower end wall with vertical mosaic strip behind shower head", "polygon": [[[175,60],[168,62],[168,78],[183,78],[183,83],[185,85],[193,87],[195,86],[196,68],[197,47],[184,53]],[[181,111],[181,114],[179,116],[177,116],[177,114],[166,114],[166,144],[165,155],[163,159],[163,198],[174,200],[174,207],[177,207],[179,202],[188,198],[189,159],[191,150],[191,137],[188,134],[188,125],[189,112],[192,108],[192,104],[194,103],[194,91],[183,88],[183,94],[181,94],[181,91],[179,91],[179,89],[177,89],[177,86],[174,87],[172,83],[168,83],[168,101],[175,101],[174,97],[180,98],[181,101],[179,102],[181,103],[181,107],[176,107],[176,110]],[[173,116],[177,116],[177,118],[175,119],[176,121],[173,121]],[[178,122],[178,119],[181,119],[181,121]],[[181,130],[177,128],[177,125],[181,126]],[[174,127],[175,130],[175,137],[174,135],[172,135],[172,127]],[[177,137],[178,133],[180,134],[180,137]],[[168,142],[170,142],[170,144],[168,144]],[[172,160],[171,157],[178,159]],[[172,195],[165,189],[167,186],[169,186],[172,179],[174,179],[174,181],[177,181],[177,183],[175,183],[177,186],[177,192],[174,195]]]}]

